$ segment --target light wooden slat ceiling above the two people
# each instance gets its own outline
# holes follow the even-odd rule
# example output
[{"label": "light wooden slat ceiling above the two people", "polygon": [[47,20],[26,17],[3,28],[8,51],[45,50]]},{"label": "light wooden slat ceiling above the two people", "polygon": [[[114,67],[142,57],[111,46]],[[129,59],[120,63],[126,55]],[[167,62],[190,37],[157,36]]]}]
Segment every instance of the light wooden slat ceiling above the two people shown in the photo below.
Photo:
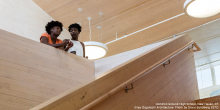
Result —
[{"label": "light wooden slat ceiling above the two people", "polygon": [[[89,40],[89,22],[92,17],[92,40],[99,41],[101,32],[96,27],[100,25],[102,16],[102,42],[107,43],[125,34],[130,34],[155,23],[183,13],[185,0],[33,0],[55,20],[61,21],[64,28],[72,23],[82,23],[81,40]],[[82,8],[81,14],[78,8]],[[145,46],[171,35],[218,19],[220,15],[195,19],[186,15],[179,16],[155,27],[141,31],[127,38],[108,44],[107,56]]]}]

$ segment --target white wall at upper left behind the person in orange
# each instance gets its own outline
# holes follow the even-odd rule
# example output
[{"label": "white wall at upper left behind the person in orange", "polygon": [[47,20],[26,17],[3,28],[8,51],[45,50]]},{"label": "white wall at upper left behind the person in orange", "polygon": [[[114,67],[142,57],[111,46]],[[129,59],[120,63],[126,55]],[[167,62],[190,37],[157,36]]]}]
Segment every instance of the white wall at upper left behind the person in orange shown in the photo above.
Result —
[{"label": "white wall at upper left behind the person in orange", "polygon": [[[53,20],[32,0],[0,0],[0,29],[35,40],[45,31],[45,25]],[[59,39],[70,38],[63,30]]]}]

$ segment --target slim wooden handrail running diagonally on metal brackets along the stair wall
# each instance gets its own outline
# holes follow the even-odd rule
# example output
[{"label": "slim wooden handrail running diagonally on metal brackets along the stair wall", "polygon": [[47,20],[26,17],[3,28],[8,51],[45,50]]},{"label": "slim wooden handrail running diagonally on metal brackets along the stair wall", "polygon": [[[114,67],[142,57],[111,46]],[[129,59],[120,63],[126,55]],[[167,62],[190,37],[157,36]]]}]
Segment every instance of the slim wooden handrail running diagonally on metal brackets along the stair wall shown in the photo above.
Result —
[{"label": "slim wooden handrail running diagonally on metal brackets along the stair wall", "polygon": [[[174,56],[176,56],[177,54],[179,54],[180,52],[184,51],[185,49],[187,49],[188,47],[195,45],[194,41],[189,42],[188,44],[184,45],[183,47],[181,47],[180,49],[174,51],[173,53],[171,53],[170,55],[168,55],[167,57],[163,58],[162,60],[158,61],[157,63],[153,64],[152,66],[148,67],[147,69],[141,71],[140,73],[138,73],[137,75],[135,75],[134,77],[130,78],[129,80],[125,81],[124,83],[120,84],[119,86],[115,87],[114,89],[112,89],[111,91],[109,91],[108,93],[102,95],[101,97],[97,98],[96,100],[92,101],[91,103],[87,104],[86,106],[84,106],[83,108],[81,108],[80,110],[88,110],[91,109],[92,107],[94,107],[95,105],[97,105],[98,103],[102,102],[103,100],[107,99],[108,97],[110,97],[111,95],[114,95],[115,93],[117,93],[118,91],[120,91],[121,89],[124,89],[128,84],[133,83],[134,81],[138,80],[139,78],[143,77],[144,75],[146,75],[147,73],[151,72],[152,70],[154,70],[155,68],[159,67],[160,65],[162,65],[163,63],[165,63],[166,61],[170,60],[171,58],[173,58]],[[198,47],[198,45],[195,46],[196,48]],[[200,48],[197,48],[197,50]],[[201,50],[201,49],[200,49]]]}]

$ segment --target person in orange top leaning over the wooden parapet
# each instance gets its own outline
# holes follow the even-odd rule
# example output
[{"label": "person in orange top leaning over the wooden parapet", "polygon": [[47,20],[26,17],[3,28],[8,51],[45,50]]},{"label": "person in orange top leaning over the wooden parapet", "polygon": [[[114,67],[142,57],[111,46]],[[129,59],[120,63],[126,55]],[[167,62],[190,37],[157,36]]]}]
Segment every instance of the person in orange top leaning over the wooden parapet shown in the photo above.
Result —
[{"label": "person in orange top leaning over the wooden parapet", "polygon": [[[68,51],[69,48],[73,46],[73,43],[57,39],[61,31],[63,31],[62,27],[63,24],[59,21],[48,22],[48,24],[45,26],[47,33],[43,33],[41,35],[40,42],[61,50]],[[66,48],[64,49],[64,47]]]}]

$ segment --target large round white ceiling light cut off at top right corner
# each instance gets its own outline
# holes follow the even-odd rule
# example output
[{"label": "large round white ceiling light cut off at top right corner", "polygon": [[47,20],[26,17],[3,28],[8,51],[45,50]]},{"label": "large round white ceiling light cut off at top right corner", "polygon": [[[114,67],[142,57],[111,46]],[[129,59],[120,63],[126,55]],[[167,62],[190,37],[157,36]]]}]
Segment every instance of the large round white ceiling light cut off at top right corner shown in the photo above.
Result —
[{"label": "large round white ceiling light cut off at top right corner", "polygon": [[186,0],[185,13],[194,18],[207,18],[220,13],[220,0]]}]

